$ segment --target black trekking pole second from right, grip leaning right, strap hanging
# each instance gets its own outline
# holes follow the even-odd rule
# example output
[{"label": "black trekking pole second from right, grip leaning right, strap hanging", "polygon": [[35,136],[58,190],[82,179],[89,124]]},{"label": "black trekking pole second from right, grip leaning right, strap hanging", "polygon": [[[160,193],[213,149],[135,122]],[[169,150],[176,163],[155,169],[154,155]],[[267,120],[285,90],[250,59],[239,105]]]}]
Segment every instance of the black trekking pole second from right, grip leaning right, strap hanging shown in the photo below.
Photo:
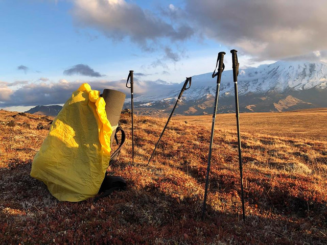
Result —
[{"label": "black trekking pole second from right, grip leaning right, strap hanging", "polygon": [[[208,166],[207,166],[207,169],[206,169],[204,200],[203,200],[203,206],[202,206],[202,219],[204,219],[204,214],[205,214],[206,196],[207,196],[208,184],[209,184],[209,171],[210,171],[210,164],[211,164],[211,155],[212,155],[213,143],[214,143],[214,131],[215,131],[215,122],[216,122],[216,112],[217,112],[217,105],[218,105],[220,80],[221,80],[221,74],[222,74],[223,70],[225,69],[225,65],[224,65],[224,55],[225,54],[226,54],[225,52],[219,52],[218,53],[217,64],[216,64],[216,68],[218,66],[218,70],[217,70],[217,73],[215,74],[215,71],[216,71],[216,68],[215,68],[213,76],[212,76],[213,78],[215,78],[217,76],[217,87],[216,87],[215,107],[214,107],[214,114],[213,114],[213,124],[212,124],[212,127],[211,127]],[[218,62],[219,62],[219,64],[218,64]]]}]

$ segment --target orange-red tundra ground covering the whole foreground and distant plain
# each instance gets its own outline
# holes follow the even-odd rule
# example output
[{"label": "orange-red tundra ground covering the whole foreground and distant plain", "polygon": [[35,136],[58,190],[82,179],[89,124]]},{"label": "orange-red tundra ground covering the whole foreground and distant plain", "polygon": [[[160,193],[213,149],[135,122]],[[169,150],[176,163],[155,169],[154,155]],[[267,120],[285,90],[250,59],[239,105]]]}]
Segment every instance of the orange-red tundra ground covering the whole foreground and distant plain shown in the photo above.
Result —
[{"label": "orange-red tundra ground covering the whole foreground and distant plain", "polygon": [[[126,191],[93,204],[58,202],[30,177],[53,118],[0,111],[0,244],[326,244],[327,110],[241,114],[246,220],[241,218],[235,114],[218,114],[202,221],[211,116],[131,117],[109,167]],[[43,128],[42,128],[43,127]],[[37,129],[38,128],[38,129]]]}]

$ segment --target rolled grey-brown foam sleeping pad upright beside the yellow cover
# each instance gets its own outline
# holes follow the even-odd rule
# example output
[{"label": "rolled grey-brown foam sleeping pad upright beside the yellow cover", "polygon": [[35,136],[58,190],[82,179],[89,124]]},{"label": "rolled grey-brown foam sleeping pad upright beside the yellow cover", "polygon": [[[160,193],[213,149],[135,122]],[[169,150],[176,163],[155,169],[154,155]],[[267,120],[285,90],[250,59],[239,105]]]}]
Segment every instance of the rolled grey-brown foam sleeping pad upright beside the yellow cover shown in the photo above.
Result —
[{"label": "rolled grey-brown foam sleeping pad upright beside the yellow cover", "polygon": [[[102,97],[106,102],[106,113],[108,120],[112,127],[118,125],[119,118],[121,117],[121,112],[124,106],[126,94],[113,89],[104,89],[102,93]],[[110,145],[114,141],[114,134],[116,129],[113,130]]]}]

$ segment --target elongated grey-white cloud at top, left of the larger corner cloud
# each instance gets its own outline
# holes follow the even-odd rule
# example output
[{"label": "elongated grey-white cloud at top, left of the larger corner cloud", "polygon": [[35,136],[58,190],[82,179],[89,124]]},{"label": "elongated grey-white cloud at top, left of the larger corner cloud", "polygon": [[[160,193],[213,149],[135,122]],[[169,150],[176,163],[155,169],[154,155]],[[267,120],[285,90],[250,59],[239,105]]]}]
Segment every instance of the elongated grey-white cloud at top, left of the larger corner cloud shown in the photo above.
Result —
[{"label": "elongated grey-white cloud at top, left of the larger corner cloud", "polygon": [[153,47],[148,44],[159,38],[178,41],[193,34],[189,26],[168,23],[133,2],[75,0],[74,3],[72,13],[78,26],[96,28],[113,39],[129,37],[145,50],[151,50]]}]

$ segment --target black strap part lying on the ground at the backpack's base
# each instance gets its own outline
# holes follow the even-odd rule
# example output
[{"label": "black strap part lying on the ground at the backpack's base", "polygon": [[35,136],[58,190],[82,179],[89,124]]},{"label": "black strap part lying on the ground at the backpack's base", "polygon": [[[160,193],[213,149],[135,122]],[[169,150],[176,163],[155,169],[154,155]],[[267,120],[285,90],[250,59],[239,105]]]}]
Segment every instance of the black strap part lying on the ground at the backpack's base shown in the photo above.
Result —
[{"label": "black strap part lying on the ground at the backpack's base", "polygon": [[103,193],[98,197],[96,197],[93,202],[96,203],[100,198],[107,197],[115,190],[124,190],[124,189],[126,189],[126,181],[124,180],[124,178],[120,176],[106,175],[104,177],[104,180],[99,190],[99,193],[101,192]]}]

